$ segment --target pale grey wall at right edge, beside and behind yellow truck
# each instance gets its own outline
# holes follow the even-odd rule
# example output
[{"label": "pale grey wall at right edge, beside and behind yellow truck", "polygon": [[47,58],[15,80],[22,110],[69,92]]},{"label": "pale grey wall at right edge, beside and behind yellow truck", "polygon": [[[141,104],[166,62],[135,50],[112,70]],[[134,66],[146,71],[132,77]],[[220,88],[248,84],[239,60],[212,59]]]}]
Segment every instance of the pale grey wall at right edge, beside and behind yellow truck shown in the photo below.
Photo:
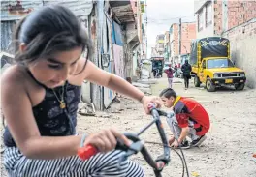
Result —
[{"label": "pale grey wall at right edge, beside and behind yellow truck", "polygon": [[225,32],[223,37],[231,42],[231,58],[245,71],[247,86],[256,88],[256,18]]}]

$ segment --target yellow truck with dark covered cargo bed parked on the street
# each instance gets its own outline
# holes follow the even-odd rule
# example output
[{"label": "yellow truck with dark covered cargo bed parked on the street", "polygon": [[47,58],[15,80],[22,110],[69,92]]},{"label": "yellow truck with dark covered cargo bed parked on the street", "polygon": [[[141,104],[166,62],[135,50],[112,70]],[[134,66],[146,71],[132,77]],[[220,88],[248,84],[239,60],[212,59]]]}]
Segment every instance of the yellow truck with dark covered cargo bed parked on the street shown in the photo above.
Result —
[{"label": "yellow truck with dark covered cargo bed parked on the street", "polygon": [[245,72],[231,61],[228,39],[208,37],[193,41],[190,64],[196,87],[205,83],[208,92],[224,85],[234,85],[236,90],[244,88]]}]

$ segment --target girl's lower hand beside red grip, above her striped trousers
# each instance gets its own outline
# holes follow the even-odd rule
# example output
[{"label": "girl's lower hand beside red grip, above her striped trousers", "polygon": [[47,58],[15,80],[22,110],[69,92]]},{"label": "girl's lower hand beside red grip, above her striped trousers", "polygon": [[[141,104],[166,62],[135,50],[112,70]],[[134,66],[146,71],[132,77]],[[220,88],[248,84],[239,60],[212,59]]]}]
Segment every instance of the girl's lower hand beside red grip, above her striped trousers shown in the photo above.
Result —
[{"label": "girl's lower hand beside red grip, above her striped trousers", "polygon": [[125,145],[130,145],[129,140],[122,133],[118,133],[114,129],[108,129],[88,135],[85,139],[84,146],[90,144],[97,148],[99,152],[107,153],[114,150],[117,143],[116,138],[123,141]]}]

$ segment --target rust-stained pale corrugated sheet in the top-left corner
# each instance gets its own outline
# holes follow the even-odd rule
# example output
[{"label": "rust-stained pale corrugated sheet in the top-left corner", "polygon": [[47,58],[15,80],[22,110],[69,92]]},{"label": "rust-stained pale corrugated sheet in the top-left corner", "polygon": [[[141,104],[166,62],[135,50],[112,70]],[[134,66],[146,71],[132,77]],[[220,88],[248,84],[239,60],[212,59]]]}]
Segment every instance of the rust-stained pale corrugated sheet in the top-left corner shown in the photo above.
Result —
[{"label": "rust-stained pale corrugated sheet in the top-left corner", "polygon": [[17,20],[43,6],[43,1],[1,1],[1,21]]}]

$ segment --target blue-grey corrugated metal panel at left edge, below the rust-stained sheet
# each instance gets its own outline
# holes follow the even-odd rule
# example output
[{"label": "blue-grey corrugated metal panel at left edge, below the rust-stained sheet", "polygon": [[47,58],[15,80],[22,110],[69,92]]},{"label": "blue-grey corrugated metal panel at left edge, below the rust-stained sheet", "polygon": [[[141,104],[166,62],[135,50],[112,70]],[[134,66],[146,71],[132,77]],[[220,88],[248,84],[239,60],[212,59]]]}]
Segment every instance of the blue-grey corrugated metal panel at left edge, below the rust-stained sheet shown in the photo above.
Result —
[{"label": "blue-grey corrugated metal panel at left edge, below the rust-stained sheet", "polygon": [[[1,21],[1,51],[9,51],[16,21]],[[11,52],[11,51],[10,51]]]}]

